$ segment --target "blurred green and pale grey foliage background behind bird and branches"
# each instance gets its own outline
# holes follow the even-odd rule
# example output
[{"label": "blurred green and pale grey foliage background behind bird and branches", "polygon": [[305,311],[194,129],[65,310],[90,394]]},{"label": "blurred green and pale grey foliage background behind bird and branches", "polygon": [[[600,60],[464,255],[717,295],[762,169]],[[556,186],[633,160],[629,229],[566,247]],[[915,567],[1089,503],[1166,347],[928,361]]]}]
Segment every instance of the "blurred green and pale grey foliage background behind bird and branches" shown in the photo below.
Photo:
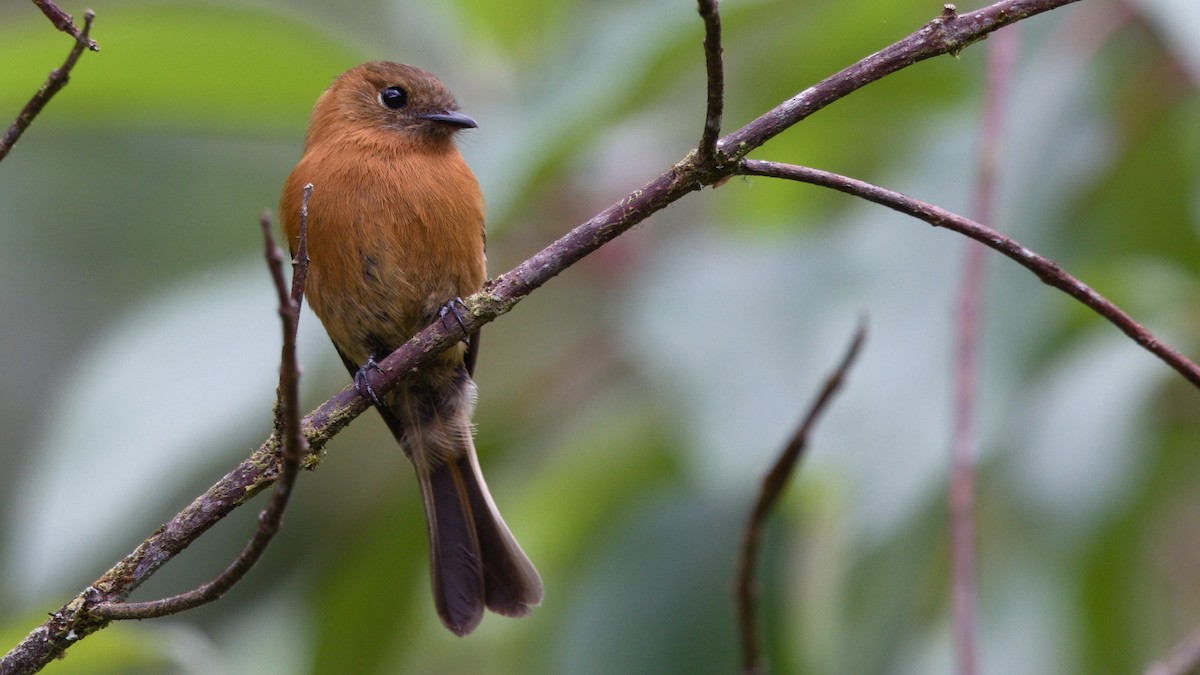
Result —
[{"label": "blurred green and pale grey foliage background behind bird and branches", "polygon": [[[103,50],[0,163],[5,650],[268,434],[278,325],[257,223],[336,73],[420,65],[479,120],[462,150],[493,275],[658,175],[703,121],[688,0],[91,6]],[[732,130],[941,6],[721,10]],[[995,226],[1196,354],[1200,5],[1090,0],[1019,31]],[[31,4],[0,6],[0,118],[68,48]],[[907,68],[754,156],[966,213],[985,54]],[[245,583],[113,626],[48,671],[731,671],[757,477],[865,313],[866,352],[767,532],[768,657],[778,673],[949,673],[962,252],[815,187],[689,196],[485,330],[479,446],[546,581],[532,617],[488,616],[468,639],[440,627],[412,470],[367,414],[301,476]],[[302,323],[311,407],[347,377]],[[1200,625],[1200,393],[995,256],[983,352],[984,671],[1136,671]],[[136,598],[215,574],[262,503]]]}]

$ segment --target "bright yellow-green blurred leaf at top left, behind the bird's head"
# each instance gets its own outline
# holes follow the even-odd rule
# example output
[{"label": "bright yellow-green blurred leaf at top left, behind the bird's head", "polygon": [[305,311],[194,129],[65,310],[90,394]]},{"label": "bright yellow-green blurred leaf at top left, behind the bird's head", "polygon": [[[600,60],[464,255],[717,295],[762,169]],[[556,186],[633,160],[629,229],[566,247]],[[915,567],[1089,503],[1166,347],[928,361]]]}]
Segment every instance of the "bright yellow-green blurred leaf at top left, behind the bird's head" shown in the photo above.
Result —
[{"label": "bright yellow-green blurred leaf at top left, behind the bird's head", "polygon": [[[296,135],[307,120],[296,113],[308,110],[334,76],[366,60],[314,26],[238,5],[101,7],[92,36],[101,52],[84,54],[37,127]],[[32,11],[0,26],[0,109],[14,112],[70,49]],[[281,119],[292,126],[281,129]]]}]

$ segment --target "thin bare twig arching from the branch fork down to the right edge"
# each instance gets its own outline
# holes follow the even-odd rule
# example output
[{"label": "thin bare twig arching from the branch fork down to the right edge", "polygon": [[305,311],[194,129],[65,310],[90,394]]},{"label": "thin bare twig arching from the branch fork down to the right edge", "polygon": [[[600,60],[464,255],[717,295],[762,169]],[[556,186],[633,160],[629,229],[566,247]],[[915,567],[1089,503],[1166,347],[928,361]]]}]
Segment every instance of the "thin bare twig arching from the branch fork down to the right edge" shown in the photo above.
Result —
[{"label": "thin bare twig arching from the branch fork down to the right edge", "polygon": [[940,207],[913,199],[906,195],[827,171],[761,160],[743,160],[740,173],[821,185],[911,215],[934,227],[944,227],[959,234],[965,234],[989,249],[1016,261],[1018,264],[1036,274],[1043,283],[1067,293],[1096,313],[1109,319],[1122,333],[1132,338],[1134,342],[1162,359],[1163,363],[1171,366],[1193,386],[1200,388],[1200,366],[1196,366],[1187,357],[1163,344],[1153,333],[1124,313],[1121,307],[1112,304],[1108,298],[1104,298],[1082,281],[1063,271],[1058,267],[1058,263],[1026,249],[1016,240],[995,229],[955,215]]}]

